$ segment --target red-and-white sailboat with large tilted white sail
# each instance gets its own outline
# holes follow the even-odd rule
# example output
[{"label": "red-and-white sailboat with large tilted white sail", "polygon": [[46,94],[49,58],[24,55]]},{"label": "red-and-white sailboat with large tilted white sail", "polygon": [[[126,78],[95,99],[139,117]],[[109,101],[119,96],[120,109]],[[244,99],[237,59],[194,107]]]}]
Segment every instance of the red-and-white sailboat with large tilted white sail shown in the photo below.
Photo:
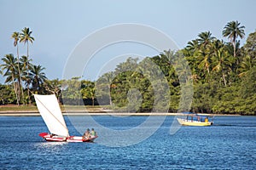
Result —
[{"label": "red-and-white sailboat with large tilted white sail", "polygon": [[84,138],[82,136],[69,136],[66,122],[61,113],[61,108],[55,94],[34,94],[38,111],[43,117],[49,133],[39,133],[46,141],[52,142],[93,142],[97,136]]}]

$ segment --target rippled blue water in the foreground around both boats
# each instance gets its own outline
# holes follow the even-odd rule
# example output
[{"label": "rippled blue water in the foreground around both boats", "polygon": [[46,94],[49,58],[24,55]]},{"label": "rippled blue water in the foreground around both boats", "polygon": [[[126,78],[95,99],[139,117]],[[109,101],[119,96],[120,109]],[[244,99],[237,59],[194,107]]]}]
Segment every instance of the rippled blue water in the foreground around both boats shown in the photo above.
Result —
[{"label": "rippled blue water in the foreground around both boats", "polygon": [[[146,119],[94,118],[113,129]],[[114,148],[45,142],[38,136],[47,132],[40,116],[0,116],[0,169],[256,169],[256,116],[217,116],[212,127],[182,127],[171,135],[173,118],[143,142]],[[69,132],[79,135],[65,119]]]}]

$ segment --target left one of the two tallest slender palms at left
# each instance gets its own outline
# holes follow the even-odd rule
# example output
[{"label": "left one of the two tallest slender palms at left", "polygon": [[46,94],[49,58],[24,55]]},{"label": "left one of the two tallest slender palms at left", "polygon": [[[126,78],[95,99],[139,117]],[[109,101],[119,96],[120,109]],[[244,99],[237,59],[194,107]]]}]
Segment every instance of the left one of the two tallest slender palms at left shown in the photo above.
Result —
[{"label": "left one of the two tallest slender palms at left", "polygon": [[12,38],[14,38],[14,46],[17,47],[17,59],[18,59],[18,73],[19,73],[19,80],[18,80],[18,88],[19,88],[19,96],[20,96],[20,91],[22,95],[22,99],[24,100],[24,93],[23,93],[23,88],[21,84],[21,76],[20,76],[20,57],[19,57],[19,40],[20,40],[20,33],[19,32],[14,32],[12,34]]}]

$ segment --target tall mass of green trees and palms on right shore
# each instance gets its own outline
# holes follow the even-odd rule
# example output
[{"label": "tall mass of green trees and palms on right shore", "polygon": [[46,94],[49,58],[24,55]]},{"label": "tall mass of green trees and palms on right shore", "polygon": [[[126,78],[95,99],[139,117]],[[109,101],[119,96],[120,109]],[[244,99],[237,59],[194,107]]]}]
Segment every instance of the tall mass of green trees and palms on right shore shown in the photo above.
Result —
[{"label": "tall mass of green trees and palms on right shore", "polygon": [[[250,33],[241,47],[239,39],[245,37],[244,29],[238,21],[230,21],[222,31],[229,42],[213,37],[210,31],[203,31],[178,51],[166,50],[142,61],[129,58],[96,81],[97,90],[102,90],[96,98],[124,111],[154,111],[154,107],[165,107],[164,102],[155,106],[159,95],[155,93],[155,82],[143,71],[151,68],[151,72],[159,74],[146,62],[150,59],[160,67],[168,82],[169,94],[161,95],[161,98],[170,100],[170,112],[188,109],[187,105],[179,105],[182,97],[180,81],[185,78],[185,82],[193,82],[194,88],[190,111],[255,115],[256,32]],[[181,69],[183,62],[176,63],[180,56],[189,63],[190,77],[186,77],[188,73]],[[157,90],[163,90],[160,88],[163,87]],[[189,95],[183,96],[186,97]]]}]

